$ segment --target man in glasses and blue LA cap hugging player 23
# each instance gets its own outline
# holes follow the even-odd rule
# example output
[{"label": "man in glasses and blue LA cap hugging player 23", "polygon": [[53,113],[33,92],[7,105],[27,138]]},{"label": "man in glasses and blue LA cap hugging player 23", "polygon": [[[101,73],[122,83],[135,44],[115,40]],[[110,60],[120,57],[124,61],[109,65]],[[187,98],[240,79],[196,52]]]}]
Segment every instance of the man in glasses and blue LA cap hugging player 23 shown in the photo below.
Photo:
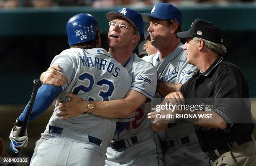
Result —
[{"label": "man in glasses and blue LA cap hugging player 23", "polygon": [[[117,12],[110,12],[107,14],[107,18],[110,21],[108,32],[109,52],[125,66],[133,81],[125,99],[95,102],[95,108],[91,113],[108,118],[127,118],[135,112],[135,119],[128,123],[124,131],[115,133],[114,139],[110,141],[110,147],[107,149],[106,165],[163,166],[159,138],[151,128],[151,121],[146,117],[151,110],[151,104],[149,102],[141,106],[147,98],[154,98],[156,69],[153,65],[132,53],[139,41],[139,34],[143,31],[143,19],[140,13],[130,8],[121,8]],[[120,26],[122,23],[127,27],[122,28]],[[49,70],[41,75],[41,80],[51,82],[51,80],[55,81],[59,79],[58,76],[61,76],[56,75],[56,78],[53,78],[50,73],[55,74],[52,70]],[[67,115],[64,118],[87,112],[85,108],[88,102],[79,100],[74,95],[72,97],[70,102],[64,102],[63,106],[59,107],[60,110],[64,110],[62,111],[63,114]],[[80,107],[80,112],[72,110],[71,105]]]}]

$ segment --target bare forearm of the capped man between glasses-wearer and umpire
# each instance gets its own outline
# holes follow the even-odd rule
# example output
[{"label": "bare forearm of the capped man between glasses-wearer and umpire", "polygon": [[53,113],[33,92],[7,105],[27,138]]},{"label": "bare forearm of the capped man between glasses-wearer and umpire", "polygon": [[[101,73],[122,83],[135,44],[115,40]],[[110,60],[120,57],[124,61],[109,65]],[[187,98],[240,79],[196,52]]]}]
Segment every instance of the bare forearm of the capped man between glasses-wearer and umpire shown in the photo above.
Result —
[{"label": "bare forearm of the capped man between glasses-wearer and umpire", "polygon": [[169,82],[157,81],[156,91],[165,97],[167,94],[177,92],[182,84],[173,84]]}]

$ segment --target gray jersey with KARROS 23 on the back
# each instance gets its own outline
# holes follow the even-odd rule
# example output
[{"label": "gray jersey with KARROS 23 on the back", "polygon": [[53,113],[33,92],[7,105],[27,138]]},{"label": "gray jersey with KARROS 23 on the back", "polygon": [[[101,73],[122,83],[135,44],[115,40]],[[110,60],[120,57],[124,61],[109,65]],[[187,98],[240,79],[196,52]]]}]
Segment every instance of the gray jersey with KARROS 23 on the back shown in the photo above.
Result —
[{"label": "gray jersey with KARROS 23 on the back", "polygon": [[[72,48],[54,57],[51,65],[57,64],[67,77],[64,91],[57,97],[59,101],[68,101],[67,94],[73,93],[84,100],[122,99],[131,87],[131,75],[108,52],[101,48]],[[113,137],[115,119],[106,119],[84,113],[77,117],[61,120],[55,115],[49,120],[51,125],[88,133],[97,138],[108,140]]]}]

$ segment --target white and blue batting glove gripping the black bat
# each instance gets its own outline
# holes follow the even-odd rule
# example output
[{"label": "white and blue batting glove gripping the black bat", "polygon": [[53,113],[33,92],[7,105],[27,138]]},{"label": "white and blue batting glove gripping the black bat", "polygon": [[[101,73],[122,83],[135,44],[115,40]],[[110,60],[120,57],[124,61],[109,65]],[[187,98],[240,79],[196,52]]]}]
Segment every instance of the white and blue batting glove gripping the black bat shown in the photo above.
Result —
[{"label": "white and blue batting glove gripping the black bat", "polygon": [[26,130],[26,133],[25,133],[24,136],[19,137],[21,128],[22,127],[14,126],[13,129],[11,130],[10,136],[9,136],[9,138],[11,140],[10,148],[15,153],[19,152],[17,148],[20,148],[20,147],[23,147],[23,146],[26,147],[27,143],[28,143],[28,132],[27,132],[27,130]]}]

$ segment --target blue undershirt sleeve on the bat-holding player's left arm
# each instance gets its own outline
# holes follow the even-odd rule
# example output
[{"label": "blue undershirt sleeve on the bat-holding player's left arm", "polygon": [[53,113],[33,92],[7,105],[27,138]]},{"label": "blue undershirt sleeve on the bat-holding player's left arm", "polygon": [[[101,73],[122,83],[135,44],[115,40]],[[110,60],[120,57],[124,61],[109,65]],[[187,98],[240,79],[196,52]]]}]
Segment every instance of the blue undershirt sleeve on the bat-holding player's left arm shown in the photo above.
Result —
[{"label": "blue undershirt sleeve on the bat-holding player's left arm", "polygon": [[[55,87],[49,84],[44,84],[43,86],[41,86],[36,94],[36,99],[34,101],[29,122],[31,122],[31,120],[34,120],[36,117],[41,115],[45,110],[47,110],[47,108],[50,107],[51,103],[61,92],[61,86]],[[26,105],[24,111],[19,116],[19,120],[21,122],[23,122],[25,119],[26,112],[28,110],[28,105],[29,102]]]}]

